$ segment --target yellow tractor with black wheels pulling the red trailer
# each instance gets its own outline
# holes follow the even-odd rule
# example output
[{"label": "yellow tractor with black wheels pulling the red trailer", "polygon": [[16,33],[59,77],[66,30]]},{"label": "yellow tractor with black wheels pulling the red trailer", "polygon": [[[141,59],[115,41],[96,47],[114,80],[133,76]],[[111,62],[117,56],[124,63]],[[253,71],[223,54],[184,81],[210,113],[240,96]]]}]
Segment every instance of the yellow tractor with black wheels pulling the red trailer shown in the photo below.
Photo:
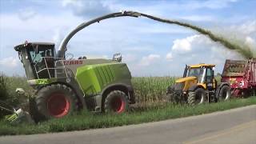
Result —
[{"label": "yellow tractor with black wheels pulling the red trailer", "polygon": [[179,78],[173,86],[167,88],[167,101],[194,106],[229,99],[230,85],[227,82],[217,83],[214,67],[212,64],[186,65],[183,78]]}]

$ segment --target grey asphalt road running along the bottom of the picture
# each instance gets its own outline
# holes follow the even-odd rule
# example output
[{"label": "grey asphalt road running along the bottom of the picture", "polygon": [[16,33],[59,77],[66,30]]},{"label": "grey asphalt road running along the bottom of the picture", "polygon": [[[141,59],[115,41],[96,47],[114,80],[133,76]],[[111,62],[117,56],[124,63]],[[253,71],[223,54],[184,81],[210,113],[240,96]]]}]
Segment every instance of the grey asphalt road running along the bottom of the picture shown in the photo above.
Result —
[{"label": "grey asphalt road running along the bottom of the picture", "polygon": [[58,134],[0,137],[1,144],[256,143],[256,105],[162,122]]}]

